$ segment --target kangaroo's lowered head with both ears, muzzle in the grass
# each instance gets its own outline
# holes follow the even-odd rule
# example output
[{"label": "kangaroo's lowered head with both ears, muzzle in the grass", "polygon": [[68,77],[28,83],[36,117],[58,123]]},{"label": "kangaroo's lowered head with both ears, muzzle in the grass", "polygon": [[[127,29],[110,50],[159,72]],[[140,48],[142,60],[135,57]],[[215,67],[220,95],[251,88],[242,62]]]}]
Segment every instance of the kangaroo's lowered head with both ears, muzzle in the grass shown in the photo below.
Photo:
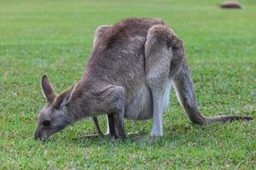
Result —
[{"label": "kangaroo's lowered head with both ears, muzzle in the grass", "polygon": [[51,134],[56,133],[72,123],[72,117],[68,116],[67,105],[72,98],[74,86],[61,94],[55,94],[54,88],[45,75],[41,80],[41,88],[47,104],[38,114],[38,127],[34,134],[35,139],[44,141]]}]

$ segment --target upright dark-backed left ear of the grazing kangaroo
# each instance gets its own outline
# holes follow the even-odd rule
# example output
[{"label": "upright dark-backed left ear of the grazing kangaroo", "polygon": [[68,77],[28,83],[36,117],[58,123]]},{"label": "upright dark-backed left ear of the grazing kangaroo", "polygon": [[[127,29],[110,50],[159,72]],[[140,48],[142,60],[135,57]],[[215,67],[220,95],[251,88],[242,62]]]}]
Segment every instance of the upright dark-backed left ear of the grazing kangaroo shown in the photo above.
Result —
[{"label": "upright dark-backed left ear of the grazing kangaroo", "polygon": [[46,75],[42,76],[41,88],[42,88],[45,99],[47,99],[49,103],[52,103],[53,100],[55,99],[55,90],[52,87]]}]

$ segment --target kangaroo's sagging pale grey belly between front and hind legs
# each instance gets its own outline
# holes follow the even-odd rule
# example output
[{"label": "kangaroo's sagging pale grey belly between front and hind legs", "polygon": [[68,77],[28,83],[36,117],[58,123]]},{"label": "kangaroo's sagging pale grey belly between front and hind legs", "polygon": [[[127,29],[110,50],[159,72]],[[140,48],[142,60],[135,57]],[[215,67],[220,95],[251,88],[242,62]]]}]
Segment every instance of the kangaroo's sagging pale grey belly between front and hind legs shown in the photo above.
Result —
[{"label": "kangaroo's sagging pale grey belly between front and hind legs", "polygon": [[125,118],[146,120],[153,117],[152,95],[147,85],[143,85],[125,105]]}]

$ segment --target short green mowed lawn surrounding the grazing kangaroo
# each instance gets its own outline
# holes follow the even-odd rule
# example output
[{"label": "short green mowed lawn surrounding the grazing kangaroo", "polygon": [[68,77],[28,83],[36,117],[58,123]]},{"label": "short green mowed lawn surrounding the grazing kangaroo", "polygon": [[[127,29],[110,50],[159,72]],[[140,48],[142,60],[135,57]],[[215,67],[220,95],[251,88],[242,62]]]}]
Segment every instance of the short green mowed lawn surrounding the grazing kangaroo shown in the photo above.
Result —
[{"label": "short green mowed lawn surrounding the grazing kangaroo", "polygon": [[[0,0],[0,169],[255,169],[256,2],[220,2]],[[161,138],[73,140],[96,133],[84,119],[44,144],[32,139],[45,104],[40,77],[57,92],[79,81],[96,27],[131,16],[162,18],[183,39],[201,112],[254,120],[195,126],[172,93]],[[148,135],[152,120],[125,127]]]}]

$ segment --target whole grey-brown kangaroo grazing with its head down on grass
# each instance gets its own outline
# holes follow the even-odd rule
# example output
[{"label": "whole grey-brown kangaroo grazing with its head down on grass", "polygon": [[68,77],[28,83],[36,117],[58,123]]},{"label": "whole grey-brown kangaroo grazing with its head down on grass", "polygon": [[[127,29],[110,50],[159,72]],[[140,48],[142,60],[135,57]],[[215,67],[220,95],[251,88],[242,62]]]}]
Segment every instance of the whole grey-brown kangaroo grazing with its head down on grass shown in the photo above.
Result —
[{"label": "whole grey-brown kangaroo grazing with its head down on grass", "polygon": [[47,76],[41,87],[47,104],[38,114],[36,139],[84,117],[107,114],[108,131],[125,139],[124,118],[153,118],[151,136],[163,135],[163,113],[174,87],[179,103],[193,123],[251,120],[251,116],[203,116],[185,56],[183,41],[163,20],[130,18],[96,30],[93,51],[83,76],[56,94]]}]

